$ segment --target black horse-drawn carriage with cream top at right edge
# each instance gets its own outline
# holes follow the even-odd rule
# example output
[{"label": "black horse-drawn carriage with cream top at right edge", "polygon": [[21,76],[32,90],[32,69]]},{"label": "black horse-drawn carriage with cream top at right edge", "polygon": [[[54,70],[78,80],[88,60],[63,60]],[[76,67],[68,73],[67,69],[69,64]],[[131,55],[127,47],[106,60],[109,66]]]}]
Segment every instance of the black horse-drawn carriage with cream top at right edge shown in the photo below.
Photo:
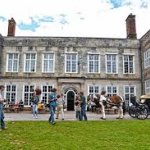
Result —
[{"label": "black horse-drawn carriage with cream top at right edge", "polygon": [[131,104],[129,107],[131,117],[144,120],[150,114],[150,95],[142,95],[139,101],[136,97],[131,97]]}]

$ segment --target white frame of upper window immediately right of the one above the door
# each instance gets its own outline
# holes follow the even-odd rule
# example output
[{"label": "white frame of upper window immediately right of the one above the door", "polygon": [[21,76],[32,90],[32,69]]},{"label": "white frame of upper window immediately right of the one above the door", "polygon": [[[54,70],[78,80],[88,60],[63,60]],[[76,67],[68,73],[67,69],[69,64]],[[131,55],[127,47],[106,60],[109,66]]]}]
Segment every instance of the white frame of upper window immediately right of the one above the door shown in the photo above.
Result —
[{"label": "white frame of upper window immediately right of the one above the door", "polygon": [[[91,61],[93,61],[93,65],[92,65],[93,71],[90,72],[90,59],[89,59],[90,55],[93,55],[93,56],[98,55],[98,71],[97,72],[95,71],[95,65],[94,64],[95,64],[96,60],[94,60],[94,59],[91,60]],[[88,73],[100,73],[100,54],[99,53],[88,53],[87,60],[88,60]]]}]

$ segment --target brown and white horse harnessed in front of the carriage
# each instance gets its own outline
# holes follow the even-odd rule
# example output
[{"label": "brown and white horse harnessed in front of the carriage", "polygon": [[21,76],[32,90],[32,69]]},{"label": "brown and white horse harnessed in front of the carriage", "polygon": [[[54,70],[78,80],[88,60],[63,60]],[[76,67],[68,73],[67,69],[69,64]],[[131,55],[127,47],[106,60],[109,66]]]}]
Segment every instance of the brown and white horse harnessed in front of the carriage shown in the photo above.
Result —
[{"label": "brown and white horse harnessed in front of the carriage", "polygon": [[[100,95],[97,94],[94,97],[94,101],[99,102],[100,101]],[[98,105],[98,103],[97,103]],[[123,119],[125,114],[125,102],[124,99],[119,95],[114,95],[110,97],[106,97],[106,101],[103,101],[103,105],[105,105],[105,108],[112,108],[116,106],[118,108],[118,117],[116,119]]]}]

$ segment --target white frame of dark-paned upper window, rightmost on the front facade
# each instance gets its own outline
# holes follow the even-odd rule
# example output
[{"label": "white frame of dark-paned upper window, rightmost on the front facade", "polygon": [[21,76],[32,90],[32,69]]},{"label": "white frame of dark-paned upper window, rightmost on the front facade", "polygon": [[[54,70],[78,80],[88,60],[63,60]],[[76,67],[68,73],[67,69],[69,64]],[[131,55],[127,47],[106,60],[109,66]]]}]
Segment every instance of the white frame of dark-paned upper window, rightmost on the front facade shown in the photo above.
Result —
[{"label": "white frame of dark-paned upper window, rightmost on the front facade", "polygon": [[[128,56],[128,72],[125,72],[125,56]],[[129,61],[129,56],[132,56],[132,65],[133,65],[133,72],[130,72],[130,61]],[[135,57],[134,55],[128,55],[128,54],[124,54],[123,55],[123,74],[135,74]]]}]

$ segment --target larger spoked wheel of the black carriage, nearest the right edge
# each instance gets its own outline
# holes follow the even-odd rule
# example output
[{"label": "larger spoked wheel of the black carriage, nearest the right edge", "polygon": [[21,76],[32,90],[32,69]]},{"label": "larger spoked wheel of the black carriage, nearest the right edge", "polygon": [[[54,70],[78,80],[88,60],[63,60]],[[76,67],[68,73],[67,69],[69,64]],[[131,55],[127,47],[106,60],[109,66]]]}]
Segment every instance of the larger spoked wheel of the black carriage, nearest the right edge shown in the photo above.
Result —
[{"label": "larger spoked wheel of the black carriage, nearest the right edge", "polygon": [[137,118],[144,120],[148,117],[148,108],[145,105],[140,105],[137,109]]}]

